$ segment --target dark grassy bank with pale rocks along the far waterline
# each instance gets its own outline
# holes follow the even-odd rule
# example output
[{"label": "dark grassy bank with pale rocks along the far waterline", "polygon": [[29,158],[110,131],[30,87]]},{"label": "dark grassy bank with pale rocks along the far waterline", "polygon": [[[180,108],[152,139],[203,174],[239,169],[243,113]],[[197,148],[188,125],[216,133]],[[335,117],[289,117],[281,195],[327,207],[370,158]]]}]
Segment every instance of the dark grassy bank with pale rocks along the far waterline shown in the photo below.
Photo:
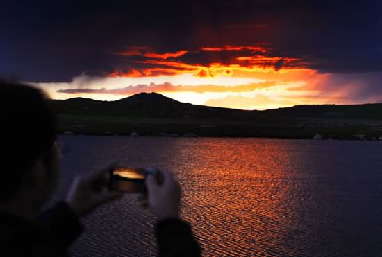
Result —
[{"label": "dark grassy bank with pale rocks along the far waterline", "polygon": [[198,136],[244,136],[311,139],[366,139],[382,136],[382,122],[368,120],[323,120],[319,118],[259,118],[256,121],[206,121],[201,119],[142,118],[124,116],[88,116],[60,114],[59,132],[74,134],[158,134],[194,133]]}]

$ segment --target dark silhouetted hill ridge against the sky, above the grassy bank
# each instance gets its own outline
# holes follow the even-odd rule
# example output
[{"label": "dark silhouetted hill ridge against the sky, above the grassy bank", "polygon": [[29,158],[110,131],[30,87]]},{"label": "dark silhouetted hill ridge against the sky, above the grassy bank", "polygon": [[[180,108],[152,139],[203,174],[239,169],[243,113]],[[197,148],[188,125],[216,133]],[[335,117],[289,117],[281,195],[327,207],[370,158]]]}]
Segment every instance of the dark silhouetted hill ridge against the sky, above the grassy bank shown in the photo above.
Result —
[{"label": "dark silhouetted hill ridge against the sky, above the grassy bank", "polygon": [[181,103],[157,93],[140,93],[116,101],[88,98],[51,100],[60,114],[94,116],[137,116],[157,118],[213,118],[243,120],[251,118],[350,118],[382,119],[382,103],[365,105],[297,105],[265,111],[247,111]]}]

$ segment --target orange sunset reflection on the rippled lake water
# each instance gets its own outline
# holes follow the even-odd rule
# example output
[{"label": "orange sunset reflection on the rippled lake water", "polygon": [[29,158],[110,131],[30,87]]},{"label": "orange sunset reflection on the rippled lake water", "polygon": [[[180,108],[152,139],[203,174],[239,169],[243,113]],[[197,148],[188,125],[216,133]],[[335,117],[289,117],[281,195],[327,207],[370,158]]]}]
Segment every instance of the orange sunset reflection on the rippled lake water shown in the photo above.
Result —
[{"label": "orange sunset reflection on the rippled lake water", "polygon": [[283,141],[183,141],[173,161],[184,192],[183,217],[206,256],[298,254],[283,245],[299,218],[299,203],[290,197],[293,175],[285,170],[293,157]]}]

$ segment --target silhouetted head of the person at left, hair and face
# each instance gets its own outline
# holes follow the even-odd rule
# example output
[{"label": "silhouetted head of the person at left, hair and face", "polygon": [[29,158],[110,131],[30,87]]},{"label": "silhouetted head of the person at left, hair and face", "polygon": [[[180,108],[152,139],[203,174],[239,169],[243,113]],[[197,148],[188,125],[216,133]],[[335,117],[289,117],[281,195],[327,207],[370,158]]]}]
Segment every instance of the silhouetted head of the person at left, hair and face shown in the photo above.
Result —
[{"label": "silhouetted head of the person at left, hair and face", "polygon": [[58,177],[56,124],[47,96],[35,87],[3,80],[0,96],[0,202],[27,195],[33,204],[42,204]]}]

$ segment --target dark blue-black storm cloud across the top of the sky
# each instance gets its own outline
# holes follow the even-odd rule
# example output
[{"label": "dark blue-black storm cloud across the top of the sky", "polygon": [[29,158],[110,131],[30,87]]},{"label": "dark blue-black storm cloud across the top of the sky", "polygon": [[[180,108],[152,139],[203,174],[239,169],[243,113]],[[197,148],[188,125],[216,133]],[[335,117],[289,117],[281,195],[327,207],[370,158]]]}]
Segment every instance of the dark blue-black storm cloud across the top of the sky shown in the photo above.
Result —
[{"label": "dark blue-black storm cloud across the top of the sky", "polygon": [[24,2],[1,6],[0,76],[58,82],[157,67],[112,54],[129,46],[229,64],[238,52],[200,49],[264,43],[280,57],[275,70],[291,57],[322,73],[382,71],[379,1]]}]

